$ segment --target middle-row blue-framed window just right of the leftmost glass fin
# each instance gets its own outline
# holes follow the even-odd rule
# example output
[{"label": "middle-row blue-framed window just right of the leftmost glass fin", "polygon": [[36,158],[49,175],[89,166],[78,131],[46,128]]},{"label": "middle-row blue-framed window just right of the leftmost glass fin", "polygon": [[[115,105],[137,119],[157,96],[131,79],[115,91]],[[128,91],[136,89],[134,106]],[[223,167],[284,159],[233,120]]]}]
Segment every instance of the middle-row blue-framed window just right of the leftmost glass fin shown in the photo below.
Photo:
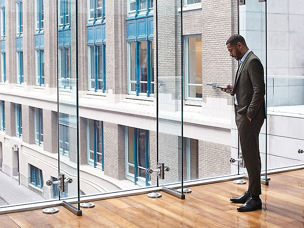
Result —
[{"label": "middle-row blue-framed window just right of the leftmost glass fin", "polygon": [[89,90],[105,92],[105,45],[88,47]]}]

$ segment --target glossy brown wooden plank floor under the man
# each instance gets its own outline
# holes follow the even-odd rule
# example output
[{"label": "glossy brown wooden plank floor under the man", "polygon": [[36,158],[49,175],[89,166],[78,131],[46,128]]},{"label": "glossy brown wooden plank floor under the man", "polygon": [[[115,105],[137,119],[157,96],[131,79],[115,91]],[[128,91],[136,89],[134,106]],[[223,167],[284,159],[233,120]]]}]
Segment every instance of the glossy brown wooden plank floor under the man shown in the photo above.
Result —
[{"label": "glossy brown wooden plank floor under the man", "polygon": [[304,227],[304,172],[270,175],[262,186],[263,209],[237,212],[230,197],[242,194],[246,185],[232,181],[192,187],[185,200],[163,193],[96,201],[92,209],[75,216],[67,209],[46,215],[42,210],[0,215],[0,227]]}]

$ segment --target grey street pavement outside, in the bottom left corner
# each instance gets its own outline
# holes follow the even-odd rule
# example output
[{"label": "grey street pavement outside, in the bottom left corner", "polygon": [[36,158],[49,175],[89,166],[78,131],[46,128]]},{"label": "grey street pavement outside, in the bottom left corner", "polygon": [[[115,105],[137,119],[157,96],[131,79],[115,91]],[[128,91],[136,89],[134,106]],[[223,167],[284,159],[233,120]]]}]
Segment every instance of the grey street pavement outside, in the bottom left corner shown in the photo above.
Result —
[{"label": "grey street pavement outside, in the bottom left corner", "polygon": [[19,185],[18,180],[6,175],[0,169],[0,206],[36,201],[45,201],[45,199],[26,186]]}]

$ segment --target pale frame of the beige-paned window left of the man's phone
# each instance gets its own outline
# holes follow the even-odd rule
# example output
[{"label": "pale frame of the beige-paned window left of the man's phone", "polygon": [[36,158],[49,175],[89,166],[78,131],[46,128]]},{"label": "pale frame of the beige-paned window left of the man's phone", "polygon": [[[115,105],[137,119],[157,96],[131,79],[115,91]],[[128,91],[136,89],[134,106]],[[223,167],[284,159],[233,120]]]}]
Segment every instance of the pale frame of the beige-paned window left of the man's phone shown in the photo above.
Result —
[{"label": "pale frame of the beige-paned window left of the man's phone", "polygon": [[186,100],[195,100],[195,101],[202,101],[202,98],[199,97],[190,97],[189,96],[189,86],[200,86],[202,87],[202,84],[196,84],[196,83],[189,83],[189,38],[193,37],[200,37],[200,35],[193,35],[193,36],[185,36],[185,92],[186,92]]}]

